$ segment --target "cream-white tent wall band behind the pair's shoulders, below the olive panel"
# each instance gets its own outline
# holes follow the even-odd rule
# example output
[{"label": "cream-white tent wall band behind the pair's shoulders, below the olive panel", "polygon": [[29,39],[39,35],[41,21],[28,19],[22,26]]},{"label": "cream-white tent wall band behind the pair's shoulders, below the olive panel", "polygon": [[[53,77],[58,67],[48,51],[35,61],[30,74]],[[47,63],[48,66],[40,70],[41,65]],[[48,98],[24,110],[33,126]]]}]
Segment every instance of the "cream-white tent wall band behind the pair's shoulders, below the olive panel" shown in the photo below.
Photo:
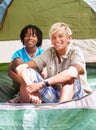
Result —
[{"label": "cream-white tent wall band behind the pair's shoulders, below the olive panel", "polygon": [[[73,39],[72,43],[80,47],[86,62],[96,62],[96,38]],[[41,47],[46,50],[50,46],[52,46],[50,39],[43,39]],[[0,41],[0,63],[9,63],[13,53],[22,47],[20,40]]]}]

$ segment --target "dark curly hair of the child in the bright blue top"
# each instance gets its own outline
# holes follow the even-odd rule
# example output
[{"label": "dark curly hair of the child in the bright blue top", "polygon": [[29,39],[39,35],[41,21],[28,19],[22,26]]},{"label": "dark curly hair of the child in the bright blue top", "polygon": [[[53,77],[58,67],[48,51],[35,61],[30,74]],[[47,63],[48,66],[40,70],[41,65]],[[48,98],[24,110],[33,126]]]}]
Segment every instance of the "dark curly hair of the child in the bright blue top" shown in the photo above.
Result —
[{"label": "dark curly hair of the child in the bright blue top", "polygon": [[42,31],[40,30],[40,28],[38,28],[37,26],[35,25],[27,25],[25,26],[22,30],[21,30],[21,33],[20,33],[20,39],[21,39],[21,42],[23,43],[24,45],[24,37],[27,33],[27,30],[28,29],[32,29],[33,31],[33,34],[36,34],[36,36],[38,37],[38,43],[36,44],[37,47],[41,46],[42,45]]}]

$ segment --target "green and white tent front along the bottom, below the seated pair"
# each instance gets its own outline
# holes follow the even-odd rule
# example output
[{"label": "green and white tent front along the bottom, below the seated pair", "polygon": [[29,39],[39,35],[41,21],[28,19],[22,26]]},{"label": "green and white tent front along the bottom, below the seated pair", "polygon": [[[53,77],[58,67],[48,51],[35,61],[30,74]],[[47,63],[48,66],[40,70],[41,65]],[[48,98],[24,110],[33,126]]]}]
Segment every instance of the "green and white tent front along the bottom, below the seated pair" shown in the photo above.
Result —
[{"label": "green and white tent front along the bottom, below the seated pair", "polygon": [[3,130],[96,130],[96,91],[62,104],[0,104]]}]

